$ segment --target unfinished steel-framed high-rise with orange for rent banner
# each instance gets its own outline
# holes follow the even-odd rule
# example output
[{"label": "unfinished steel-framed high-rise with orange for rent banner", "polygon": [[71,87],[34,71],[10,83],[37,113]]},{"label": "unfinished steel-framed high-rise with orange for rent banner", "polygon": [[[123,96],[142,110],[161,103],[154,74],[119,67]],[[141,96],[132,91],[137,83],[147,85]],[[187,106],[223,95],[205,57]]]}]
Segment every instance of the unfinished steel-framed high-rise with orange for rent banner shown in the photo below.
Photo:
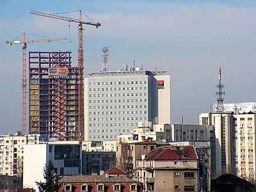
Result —
[{"label": "unfinished steel-framed high-rise with orange for rent banner", "polygon": [[78,68],[71,67],[71,52],[29,52],[29,133],[81,140],[77,121]]}]

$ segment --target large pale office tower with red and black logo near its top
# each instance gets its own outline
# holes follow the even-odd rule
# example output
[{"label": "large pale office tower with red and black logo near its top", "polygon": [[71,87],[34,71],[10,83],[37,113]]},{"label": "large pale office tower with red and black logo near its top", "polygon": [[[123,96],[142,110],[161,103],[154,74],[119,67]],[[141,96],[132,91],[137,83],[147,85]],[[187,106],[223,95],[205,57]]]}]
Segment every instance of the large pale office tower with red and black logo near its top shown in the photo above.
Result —
[{"label": "large pale office tower with red and black logo near its top", "polygon": [[170,76],[148,70],[89,74],[84,80],[85,140],[117,140],[138,121],[170,124]]}]

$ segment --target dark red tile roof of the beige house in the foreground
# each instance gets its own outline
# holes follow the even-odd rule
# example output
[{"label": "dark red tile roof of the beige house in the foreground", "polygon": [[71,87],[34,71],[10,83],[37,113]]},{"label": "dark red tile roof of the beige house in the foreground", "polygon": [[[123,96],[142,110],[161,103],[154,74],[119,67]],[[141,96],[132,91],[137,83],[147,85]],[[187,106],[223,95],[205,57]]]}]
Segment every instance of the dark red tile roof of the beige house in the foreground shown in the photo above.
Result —
[{"label": "dark red tile roof of the beige house in the foreground", "polygon": [[196,160],[196,152],[192,146],[157,147],[145,156],[145,160]]}]

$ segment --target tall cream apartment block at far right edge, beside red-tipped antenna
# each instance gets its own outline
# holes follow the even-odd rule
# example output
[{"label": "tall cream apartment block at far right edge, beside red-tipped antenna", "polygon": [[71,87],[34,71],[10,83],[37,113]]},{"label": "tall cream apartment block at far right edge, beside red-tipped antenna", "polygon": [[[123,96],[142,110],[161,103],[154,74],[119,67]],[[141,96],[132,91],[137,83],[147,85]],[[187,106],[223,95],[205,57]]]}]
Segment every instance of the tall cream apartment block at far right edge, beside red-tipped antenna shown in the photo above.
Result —
[{"label": "tall cream apartment block at far right edge, beside red-tipped antenna", "polygon": [[223,113],[201,113],[199,116],[200,124],[214,125],[216,177],[221,173],[233,173],[248,180],[255,179],[256,103],[223,106]]}]

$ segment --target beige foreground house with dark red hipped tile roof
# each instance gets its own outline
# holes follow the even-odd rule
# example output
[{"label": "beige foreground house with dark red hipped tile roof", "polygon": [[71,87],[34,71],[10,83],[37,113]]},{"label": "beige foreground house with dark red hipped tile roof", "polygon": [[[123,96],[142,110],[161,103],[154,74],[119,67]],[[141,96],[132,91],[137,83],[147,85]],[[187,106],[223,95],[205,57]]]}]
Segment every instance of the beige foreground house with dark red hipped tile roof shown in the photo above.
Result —
[{"label": "beige foreground house with dark red hipped tile roof", "polygon": [[199,191],[195,148],[158,147],[136,161],[134,179],[144,191]]}]

